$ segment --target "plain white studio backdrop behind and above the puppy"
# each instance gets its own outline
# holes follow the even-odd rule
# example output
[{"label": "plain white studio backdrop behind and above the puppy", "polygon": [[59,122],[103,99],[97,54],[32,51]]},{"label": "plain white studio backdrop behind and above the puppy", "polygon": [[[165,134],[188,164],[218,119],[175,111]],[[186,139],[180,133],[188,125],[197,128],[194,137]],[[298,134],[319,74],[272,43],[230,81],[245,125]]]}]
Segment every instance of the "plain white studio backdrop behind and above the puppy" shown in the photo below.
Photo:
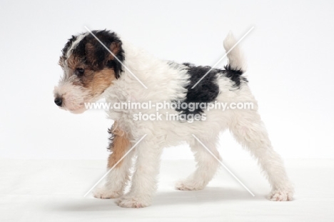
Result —
[{"label": "plain white studio backdrop behind and above the puppy", "polygon": [[[105,159],[103,111],[54,104],[61,49],[72,34],[111,29],[161,59],[213,65],[228,31],[283,158],[334,158],[333,1],[1,1],[0,157]],[[226,63],[226,60],[220,65]],[[157,83],[158,84],[158,83]],[[248,158],[223,133],[224,159]],[[186,146],[163,158],[192,158]]]}]

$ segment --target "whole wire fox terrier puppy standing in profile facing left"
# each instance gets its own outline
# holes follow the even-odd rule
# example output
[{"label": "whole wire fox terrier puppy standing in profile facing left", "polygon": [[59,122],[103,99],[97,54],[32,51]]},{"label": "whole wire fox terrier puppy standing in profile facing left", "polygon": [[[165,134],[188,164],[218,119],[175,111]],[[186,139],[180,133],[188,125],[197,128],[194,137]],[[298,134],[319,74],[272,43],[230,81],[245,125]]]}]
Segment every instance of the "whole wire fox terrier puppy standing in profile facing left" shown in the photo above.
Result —
[{"label": "whole wire fox terrier puppy standing in profile facing left", "polygon": [[[229,34],[223,46],[229,51],[235,44],[236,39]],[[228,128],[257,158],[272,188],[268,198],[292,200],[293,186],[283,161],[271,146],[257,102],[243,76],[246,63],[238,46],[228,54],[225,69],[211,69],[156,59],[121,40],[114,32],[92,31],[69,39],[59,65],[64,76],[54,89],[54,102],[61,109],[82,113],[87,103],[102,97],[110,104],[140,105],[148,101],[163,104],[158,112],[156,108],[139,106],[108,109],[108,116],[115,121],[108,130],[111,133],[108,169],[113,169],[103,188],[94,191],[96,198],[118,198],[116,203],[122,207],[151,205],[163,147],[176,146],[182,141],[191,147],[197,168],[176,183],[176,188],[183,191],[205,188],[219,166],[213,156],[220,158],[216,147],[218,135]],[[251,102],[253,107],[209,109],[213,104],[242,102]],[[130,178],[130,191],[124,193]]]}]

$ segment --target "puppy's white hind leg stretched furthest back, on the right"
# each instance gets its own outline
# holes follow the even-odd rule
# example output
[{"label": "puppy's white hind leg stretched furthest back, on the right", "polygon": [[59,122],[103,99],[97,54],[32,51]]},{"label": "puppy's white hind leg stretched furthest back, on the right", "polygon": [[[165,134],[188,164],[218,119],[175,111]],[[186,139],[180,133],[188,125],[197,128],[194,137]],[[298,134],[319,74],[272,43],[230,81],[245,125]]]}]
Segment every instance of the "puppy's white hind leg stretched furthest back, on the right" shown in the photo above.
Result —
[{"label": "puppy's white hind leg stretched furthest back, on the right", "polygon": [[291,201],[293,186],[285,172],[282,159],[271,146],[268,133],[257,111],[236,111],[230,131],[236,140],[258,159],[272,188],[268,198],[271,201]]}]

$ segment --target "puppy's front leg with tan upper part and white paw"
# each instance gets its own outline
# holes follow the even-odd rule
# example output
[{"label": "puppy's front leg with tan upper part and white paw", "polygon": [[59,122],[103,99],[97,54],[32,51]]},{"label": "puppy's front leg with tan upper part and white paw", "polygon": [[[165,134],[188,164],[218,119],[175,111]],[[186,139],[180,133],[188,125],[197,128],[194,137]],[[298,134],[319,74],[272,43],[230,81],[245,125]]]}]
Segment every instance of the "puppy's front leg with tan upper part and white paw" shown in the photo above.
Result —
[{"label": "puppy's front leg with tan upper part and white paw", "polygon": [[113,169],[108,173],[105,185],[102,188],[96,188],[93,192],[96,198],[118,198],[122,196],[132,163],[133,151],[121,160],[131,145],[126,133],[117,127],[116,122],[108,132],[111,133],[109,148],[112,153],[108,158],[107,171]]}]

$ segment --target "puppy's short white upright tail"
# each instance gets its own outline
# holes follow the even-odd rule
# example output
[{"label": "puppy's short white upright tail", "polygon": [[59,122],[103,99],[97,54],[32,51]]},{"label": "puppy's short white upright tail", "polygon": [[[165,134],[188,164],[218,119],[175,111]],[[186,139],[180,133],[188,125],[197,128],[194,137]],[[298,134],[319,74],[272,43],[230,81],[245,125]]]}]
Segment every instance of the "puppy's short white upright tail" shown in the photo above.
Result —
[{"label": "puppy's short white upright tail", "polygon": [[[233,34],[230,32],[228,36],[224,39],[224,48],[226,50],[228,57],[228,69],[241,71],[244,73],[246,71],[246,59],[244,58],[237,41],[234,38]],[[234,46],[234,48],[233,48]]]}]

